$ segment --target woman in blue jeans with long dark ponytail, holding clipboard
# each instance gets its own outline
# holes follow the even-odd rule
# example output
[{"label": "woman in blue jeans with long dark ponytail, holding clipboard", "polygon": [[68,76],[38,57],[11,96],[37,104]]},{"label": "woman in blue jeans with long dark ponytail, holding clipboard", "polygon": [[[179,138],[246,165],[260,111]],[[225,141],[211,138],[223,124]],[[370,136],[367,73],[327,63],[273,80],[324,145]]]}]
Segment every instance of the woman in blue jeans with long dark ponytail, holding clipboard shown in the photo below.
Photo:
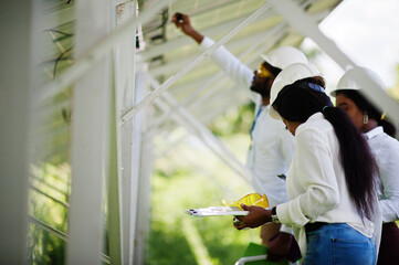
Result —
[{"label": "woman in blue jeans with long dark ponytail, holding clipboard", "polygon": [[333,107],[324,86],[311,64],[290,65],[274,81],[271,116],[295,136],[288,201],[271,210],[242,205],[249,214],[234,226],[292,226],[304,264],[375,264],[378,168],[366,140],[345,112]]}]

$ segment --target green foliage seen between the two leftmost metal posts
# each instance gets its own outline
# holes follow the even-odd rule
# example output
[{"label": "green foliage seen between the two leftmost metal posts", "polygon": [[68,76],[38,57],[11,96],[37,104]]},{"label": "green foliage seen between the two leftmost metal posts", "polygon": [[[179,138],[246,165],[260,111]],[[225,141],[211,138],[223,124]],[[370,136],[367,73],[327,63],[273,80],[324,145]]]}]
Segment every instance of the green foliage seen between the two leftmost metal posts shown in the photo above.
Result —
[{"label": "green foliage seen between the two leftmost metal posts", "polygon": [[[67,202],[67,166],[42,165],[33,170],[31,182],[39,191],[54,198],[50,199],[36,190],[29,193],[29,214],[54,229],[66,233],[67,209],[60,202]],[[28,232],[28,263],[33,265],[64,264],[65,241],[31,223]]]}]

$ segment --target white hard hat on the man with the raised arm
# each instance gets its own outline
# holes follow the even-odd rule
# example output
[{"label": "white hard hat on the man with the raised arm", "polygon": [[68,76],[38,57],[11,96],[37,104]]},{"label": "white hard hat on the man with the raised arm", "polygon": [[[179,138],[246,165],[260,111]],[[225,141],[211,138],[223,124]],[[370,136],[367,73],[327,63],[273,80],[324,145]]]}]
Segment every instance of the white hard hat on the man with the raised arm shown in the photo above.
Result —
[{"label": "white hard hat on the man with the raised arm", "polygon": [[267,55],[261,55],[261,57],[277,68],[285,68],[293,63],[307,63],[307,59],[303,52],[293,46],[281,46],[274,49]]}]

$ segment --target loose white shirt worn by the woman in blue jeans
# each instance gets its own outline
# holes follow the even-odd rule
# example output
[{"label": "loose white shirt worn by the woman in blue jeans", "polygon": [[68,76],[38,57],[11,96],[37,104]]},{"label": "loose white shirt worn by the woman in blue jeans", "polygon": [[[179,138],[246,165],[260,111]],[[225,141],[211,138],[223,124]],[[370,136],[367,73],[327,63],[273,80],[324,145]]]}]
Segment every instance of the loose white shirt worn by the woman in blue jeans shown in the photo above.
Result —
[{"label": "loose white shirt worn by the woman in blue jeans", "polygon": [[[276,208],[280,221],[293,227],[302,255],[307,250],[305,224],[311,222],[347,223],[364,235],[375,236],[379,229],[367,219],[363,222],[349,197],[339,144],[332,124],[322,113],[312,115],[295,132],[295,152],[287,178],[288,201]],[[376,202],[376,205],[378,203]],[[380,221],[380,212],[376,220]],[[378,221],[376,226],[378,226]]]}]

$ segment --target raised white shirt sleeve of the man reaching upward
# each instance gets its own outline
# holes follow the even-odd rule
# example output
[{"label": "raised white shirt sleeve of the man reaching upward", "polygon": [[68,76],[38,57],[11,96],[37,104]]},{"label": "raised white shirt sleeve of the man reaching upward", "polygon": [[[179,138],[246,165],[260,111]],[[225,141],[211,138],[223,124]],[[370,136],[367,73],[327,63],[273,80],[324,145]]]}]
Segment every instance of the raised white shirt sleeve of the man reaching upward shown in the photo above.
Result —
[{"label": "raised white shirt sleeve of the man reaching upward", "polygon": [[[200,43],[202,51],[207,50],[214,43],[213,40],[204,36]],[[224,46],[218,47],[212,54],[211,60],[240,87],[250,92],[250,97],[253,102],[259,102],[261,97],[259,94],[250,91],[253,80],[253,71],[243,64],[238,57],[231,54]]]}]

